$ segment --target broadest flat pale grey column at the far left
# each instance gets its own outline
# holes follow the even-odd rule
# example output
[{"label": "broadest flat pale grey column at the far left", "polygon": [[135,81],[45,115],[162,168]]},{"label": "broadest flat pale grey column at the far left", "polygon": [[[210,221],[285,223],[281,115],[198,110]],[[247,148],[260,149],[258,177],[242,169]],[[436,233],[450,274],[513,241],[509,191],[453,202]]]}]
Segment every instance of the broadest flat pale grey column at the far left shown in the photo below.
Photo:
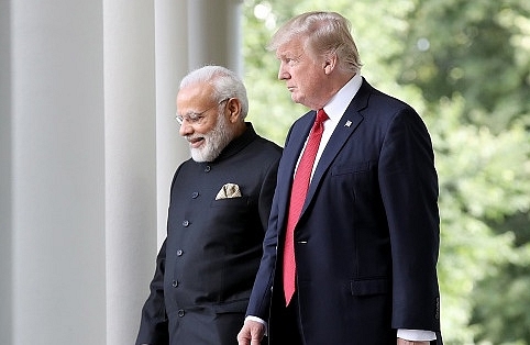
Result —
[{"label": "broadest flat pale grey column at the far left", "polygon": [[104,344],[101,3],[10,5],[10,344]]}]

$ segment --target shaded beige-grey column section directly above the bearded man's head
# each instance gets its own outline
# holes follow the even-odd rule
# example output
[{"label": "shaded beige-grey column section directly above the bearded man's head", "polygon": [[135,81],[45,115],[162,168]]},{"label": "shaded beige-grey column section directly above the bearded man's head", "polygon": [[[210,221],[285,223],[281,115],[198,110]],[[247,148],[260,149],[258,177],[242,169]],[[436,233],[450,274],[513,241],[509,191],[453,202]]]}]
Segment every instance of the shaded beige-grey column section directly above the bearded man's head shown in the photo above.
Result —
[{"label": "shaded beige-grey column section directly above the bearded man's head", "polygon": [[241,0],[194,0],[188,3],[191,68],[221,65],[242,74]]}]

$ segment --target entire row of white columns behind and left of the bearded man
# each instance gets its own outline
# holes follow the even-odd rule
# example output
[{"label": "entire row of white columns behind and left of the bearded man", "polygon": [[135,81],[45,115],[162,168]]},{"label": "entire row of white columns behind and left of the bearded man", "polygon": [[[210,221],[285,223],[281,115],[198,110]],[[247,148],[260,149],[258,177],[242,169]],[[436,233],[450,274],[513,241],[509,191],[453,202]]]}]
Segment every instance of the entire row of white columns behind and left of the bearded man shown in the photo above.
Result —
[{"label": "entire row of white columns behind and left of the bearded man", "polygon": [[2,344],[132,344],[188,157],[179,79],[241,73],[236,0],[0,0]]}]

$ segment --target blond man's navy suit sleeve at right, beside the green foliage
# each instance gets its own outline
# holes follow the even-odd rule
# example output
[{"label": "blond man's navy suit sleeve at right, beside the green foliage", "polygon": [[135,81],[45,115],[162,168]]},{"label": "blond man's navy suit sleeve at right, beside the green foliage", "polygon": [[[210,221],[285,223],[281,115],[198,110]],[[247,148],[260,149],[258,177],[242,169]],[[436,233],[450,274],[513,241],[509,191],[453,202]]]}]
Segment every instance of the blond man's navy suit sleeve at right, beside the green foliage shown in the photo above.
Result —
[{"label": "blond man's navy suit sleeve at right, beside the green foliage", "polygon": [[388,129],[379,182],[391,243],[393,326],[439,331],[438,177],[427,127],[411,109],[398,111]]}]

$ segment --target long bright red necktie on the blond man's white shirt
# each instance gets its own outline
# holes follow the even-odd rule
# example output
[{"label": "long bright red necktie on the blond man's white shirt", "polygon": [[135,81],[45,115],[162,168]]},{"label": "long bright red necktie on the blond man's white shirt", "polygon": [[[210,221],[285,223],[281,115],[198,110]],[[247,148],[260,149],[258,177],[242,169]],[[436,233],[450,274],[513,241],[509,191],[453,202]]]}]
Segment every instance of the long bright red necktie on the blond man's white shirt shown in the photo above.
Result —
[{"label": "long bright red necktie on the blond man's white shirt", "polygon": [[320,140],[324,131],[323,122],[328,120],[328,115],[323,109],[317,113],[314,124],[309,133],[309,140],[303,149],[303,154],[298,163],[295,179],[292,181],[292,189],[290,191],[289,214],[287,218],[287,229],[285,235],[284,246],[284,292],[286,304],[289,304],[292,294],[295,293],[295,226],[300,218],[300,212],[306,201],[306,194],[311,179],[311,171],[314,164],[314,158],[319,149]]}]

